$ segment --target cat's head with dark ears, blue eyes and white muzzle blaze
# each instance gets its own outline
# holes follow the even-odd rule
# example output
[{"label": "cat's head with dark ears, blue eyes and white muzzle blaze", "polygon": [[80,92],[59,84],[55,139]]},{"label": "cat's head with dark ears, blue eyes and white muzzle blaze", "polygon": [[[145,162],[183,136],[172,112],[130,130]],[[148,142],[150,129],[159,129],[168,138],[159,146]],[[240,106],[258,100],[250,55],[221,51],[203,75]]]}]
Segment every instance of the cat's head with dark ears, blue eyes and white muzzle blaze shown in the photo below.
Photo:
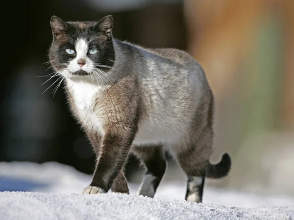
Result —
[{"label": "cat's head with dark ears, blue eyes and white muzzle blaze", "polygon": [[111,16],[99,22],[64,22],[53,16],[50,24],[53,42],[49,59],[59,74],[67,78],[93,77],[113,66]]}]

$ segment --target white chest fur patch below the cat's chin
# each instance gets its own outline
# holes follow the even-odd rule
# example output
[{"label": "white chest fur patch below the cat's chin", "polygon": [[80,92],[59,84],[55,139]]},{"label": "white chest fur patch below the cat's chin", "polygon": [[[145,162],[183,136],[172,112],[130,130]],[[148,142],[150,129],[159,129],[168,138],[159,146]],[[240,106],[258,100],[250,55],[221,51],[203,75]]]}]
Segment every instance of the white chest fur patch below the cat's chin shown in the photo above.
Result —
[{"label": "white chest fur patch below the cat's chin", "polygon": [[103,118],[99,115],[98,110],[95,109],[95,100],[105,87],[74,81],[68,81],[68,86],[73,95],[73,102],[82,125],[91,130],[94,129],[103,135]]}]

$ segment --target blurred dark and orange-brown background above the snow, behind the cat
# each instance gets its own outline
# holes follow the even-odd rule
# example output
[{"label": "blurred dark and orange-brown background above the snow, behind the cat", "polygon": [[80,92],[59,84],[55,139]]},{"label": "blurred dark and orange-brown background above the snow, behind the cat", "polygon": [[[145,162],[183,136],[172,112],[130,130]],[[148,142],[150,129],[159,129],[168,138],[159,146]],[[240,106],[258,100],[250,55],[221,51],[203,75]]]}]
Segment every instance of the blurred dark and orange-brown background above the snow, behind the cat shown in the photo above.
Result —
[{"label": "blurred dark and orange-brown background above the snow, behind the cat", "polygon": [[[215,153],[232,156],[229,176],[207,185],[294,196],[293,0],[8,1],[7,47],[0,74],[0,161],[57,161],[91,174],[95,156],[69,112],[63,89],[53,97],[49,20],[98,21],[111,14],[113,34],[147,47],[188,51],[203,66],[216,97]],[[2,60],[4,61],[4,60]],[[42,86],[41,86],[42,85]],[[131,157],[126,176],[140,182]],[[182,181],[169,161],[166,181]]]}]

